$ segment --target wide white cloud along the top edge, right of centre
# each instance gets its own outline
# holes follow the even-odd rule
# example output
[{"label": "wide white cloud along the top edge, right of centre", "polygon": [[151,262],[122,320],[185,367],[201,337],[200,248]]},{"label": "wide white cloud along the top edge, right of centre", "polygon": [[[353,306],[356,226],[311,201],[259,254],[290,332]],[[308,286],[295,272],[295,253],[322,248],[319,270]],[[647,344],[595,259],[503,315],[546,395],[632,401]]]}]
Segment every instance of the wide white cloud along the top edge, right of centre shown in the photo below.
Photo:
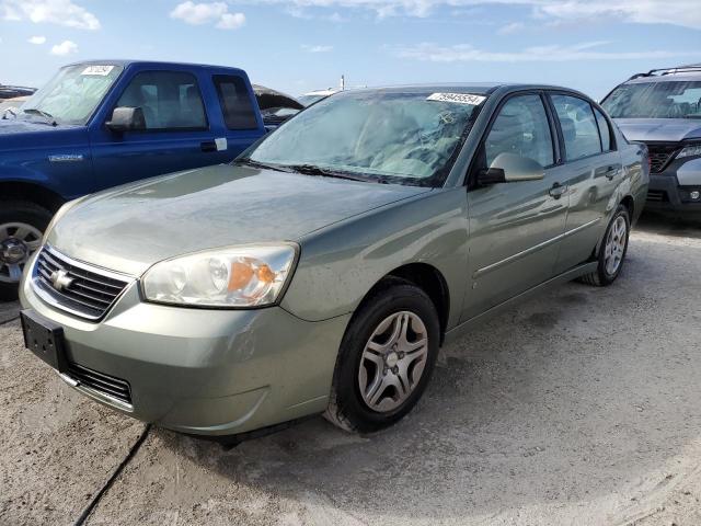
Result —
[{"label": "wide white cloud along the top edge, right of centre", "polygon": [[699,0],[263,0],[284,4],[288,11],[307,8],[364,9],[378,18],[409,15],[428,16],[440,7],[522,5],[533,8],[537,16],[551,20],[604,18],[634,23],[668,23],[701,28]]}]

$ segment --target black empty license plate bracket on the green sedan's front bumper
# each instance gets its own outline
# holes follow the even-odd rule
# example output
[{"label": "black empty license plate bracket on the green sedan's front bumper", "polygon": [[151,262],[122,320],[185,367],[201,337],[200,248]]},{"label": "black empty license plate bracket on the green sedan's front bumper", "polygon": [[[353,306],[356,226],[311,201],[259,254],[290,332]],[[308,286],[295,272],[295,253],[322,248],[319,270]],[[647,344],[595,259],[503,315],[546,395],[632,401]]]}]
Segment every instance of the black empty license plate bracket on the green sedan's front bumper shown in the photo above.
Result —
[{"label": "black empty license plate bracket on the green sedan's front bumper", "polygon": [[68,370],[64,328],[31,309],[20,312],[24,346],[59,373]]}]

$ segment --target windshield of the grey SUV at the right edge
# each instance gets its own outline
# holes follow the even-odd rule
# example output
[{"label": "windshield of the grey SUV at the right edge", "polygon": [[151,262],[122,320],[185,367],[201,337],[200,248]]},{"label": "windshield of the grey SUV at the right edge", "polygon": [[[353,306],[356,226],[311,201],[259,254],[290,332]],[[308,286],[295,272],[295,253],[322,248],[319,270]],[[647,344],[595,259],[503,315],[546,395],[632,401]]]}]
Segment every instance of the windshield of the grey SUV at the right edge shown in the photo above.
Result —
[{"label": "windshield of the grey SUV at the right edge", "polygon": [[601,105],[613,118],[701,118],[701,81],[622,84]]}]

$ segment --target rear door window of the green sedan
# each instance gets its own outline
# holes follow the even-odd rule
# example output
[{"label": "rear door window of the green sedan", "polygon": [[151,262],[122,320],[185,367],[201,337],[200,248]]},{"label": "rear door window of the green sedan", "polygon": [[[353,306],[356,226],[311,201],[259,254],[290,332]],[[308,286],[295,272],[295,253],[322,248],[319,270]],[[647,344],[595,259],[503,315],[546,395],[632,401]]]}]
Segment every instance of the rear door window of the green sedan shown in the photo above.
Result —
[{"label": "rear door window of the green sedan", "polygon": [[599,125],[591,104],[578,96],[562,94],[553,94],[552,103],[560,119],[567,160],[601,153]]}]

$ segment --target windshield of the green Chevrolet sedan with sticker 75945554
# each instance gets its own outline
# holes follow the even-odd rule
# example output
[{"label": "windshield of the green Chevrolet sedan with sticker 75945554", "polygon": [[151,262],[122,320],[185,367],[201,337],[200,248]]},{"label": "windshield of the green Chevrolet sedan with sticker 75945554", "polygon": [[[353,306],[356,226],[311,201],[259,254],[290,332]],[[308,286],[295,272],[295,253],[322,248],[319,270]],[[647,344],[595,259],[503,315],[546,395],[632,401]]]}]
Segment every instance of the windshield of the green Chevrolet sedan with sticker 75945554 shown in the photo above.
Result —
[{"label": "windshield of the green Chevrolet sedan with sticker 75945554", "polygon": [[438,186],[484,99],[393,91],[334,95],[280,126],[241,160]]}]

